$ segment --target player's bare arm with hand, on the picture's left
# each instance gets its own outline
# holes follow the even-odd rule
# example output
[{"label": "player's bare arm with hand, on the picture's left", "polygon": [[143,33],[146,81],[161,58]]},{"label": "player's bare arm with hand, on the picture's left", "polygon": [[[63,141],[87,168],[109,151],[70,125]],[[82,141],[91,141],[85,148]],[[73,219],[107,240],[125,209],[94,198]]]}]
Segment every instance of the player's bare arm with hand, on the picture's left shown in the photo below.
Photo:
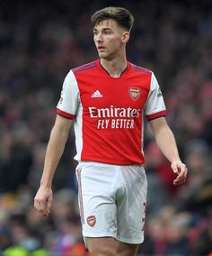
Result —
[{"label": "player's bare arm with hand, on the picture's left", "polygon": [[72,120],[57,115],[56,122],[50,133],[40,188],[34,198],[35,208],[46,216],[49,215],[52,203],[52,179],[64,152],[71,123]]}]

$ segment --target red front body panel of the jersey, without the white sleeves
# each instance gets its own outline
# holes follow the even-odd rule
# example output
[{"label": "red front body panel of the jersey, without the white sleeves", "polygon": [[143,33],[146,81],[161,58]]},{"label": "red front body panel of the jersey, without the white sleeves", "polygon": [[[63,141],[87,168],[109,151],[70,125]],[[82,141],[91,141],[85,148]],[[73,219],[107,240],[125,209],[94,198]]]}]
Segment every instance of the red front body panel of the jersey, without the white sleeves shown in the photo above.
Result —
[{"label": "red front body panel of the jersey, without the white sleeves", "polygon": [[[95,63],[97,68],[75,72],[84,109],[84,147],[81,158],[120,165],[144,163],[141,151],[142,110],[150,90],[152,73],[146,69],[135,71],[128,63],[128,68],[120,78],[111,78],[99,60]],[[130,85],[140,88],[137,100],[133,100],[129,95]],[[102,97],[92,97],[97,90]],[[120,106],[121,109],[128,109],[127,113],[121,112]],[[93,118],[89,107],[92,109]],[[98,115],[98,109],[105,113]],[[133,129],[130,129],[132,126]]]}]

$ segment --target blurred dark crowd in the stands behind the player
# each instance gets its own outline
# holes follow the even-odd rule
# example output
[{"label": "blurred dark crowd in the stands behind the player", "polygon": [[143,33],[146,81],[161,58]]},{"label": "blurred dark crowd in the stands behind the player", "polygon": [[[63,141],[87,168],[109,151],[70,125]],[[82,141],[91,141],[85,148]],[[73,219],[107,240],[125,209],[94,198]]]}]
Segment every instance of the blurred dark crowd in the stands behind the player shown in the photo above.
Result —
[{"label": "blurred dark crowd in the stands behind the player", "polygon": [[97,59],[90,15],[108,5],[135,16],[128,59],[152,69],[189,177],[170,164],[146,123],[146,240],[139,255],[212,255],[212,3],[0,2],[0,255],[84,256],[71,131],[49,218],[33,208],[56,105],[69,69]]}]

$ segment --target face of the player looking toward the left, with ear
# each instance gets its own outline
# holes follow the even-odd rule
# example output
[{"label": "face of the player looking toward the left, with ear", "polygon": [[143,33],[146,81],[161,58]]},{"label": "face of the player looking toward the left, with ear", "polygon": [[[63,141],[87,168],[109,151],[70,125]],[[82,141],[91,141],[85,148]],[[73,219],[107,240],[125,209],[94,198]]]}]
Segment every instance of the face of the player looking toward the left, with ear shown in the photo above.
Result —
[{"label": "face of the player looking toward the left, with ear", "polygon": [[127,38],[128,32],[113,20],[102,21],[93,28],[93,41],[102,59],[110,60],[118,56]]}]

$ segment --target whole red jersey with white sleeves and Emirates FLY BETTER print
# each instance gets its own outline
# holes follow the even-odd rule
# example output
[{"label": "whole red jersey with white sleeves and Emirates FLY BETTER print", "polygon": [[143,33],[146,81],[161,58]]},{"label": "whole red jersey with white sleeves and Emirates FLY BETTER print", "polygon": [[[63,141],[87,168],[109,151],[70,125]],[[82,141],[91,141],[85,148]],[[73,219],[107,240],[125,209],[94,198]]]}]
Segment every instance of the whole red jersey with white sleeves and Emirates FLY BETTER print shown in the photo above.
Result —
[{"label": "whole red jersey with white sleeves and Emirates FLY BETTER print", "polygon": [[145,161],[144,117],[166,110],[152,71],[128,62],[112,78],[97,59],[67,74],[57,114],[75,119],[75,160],[131,165]]}]

